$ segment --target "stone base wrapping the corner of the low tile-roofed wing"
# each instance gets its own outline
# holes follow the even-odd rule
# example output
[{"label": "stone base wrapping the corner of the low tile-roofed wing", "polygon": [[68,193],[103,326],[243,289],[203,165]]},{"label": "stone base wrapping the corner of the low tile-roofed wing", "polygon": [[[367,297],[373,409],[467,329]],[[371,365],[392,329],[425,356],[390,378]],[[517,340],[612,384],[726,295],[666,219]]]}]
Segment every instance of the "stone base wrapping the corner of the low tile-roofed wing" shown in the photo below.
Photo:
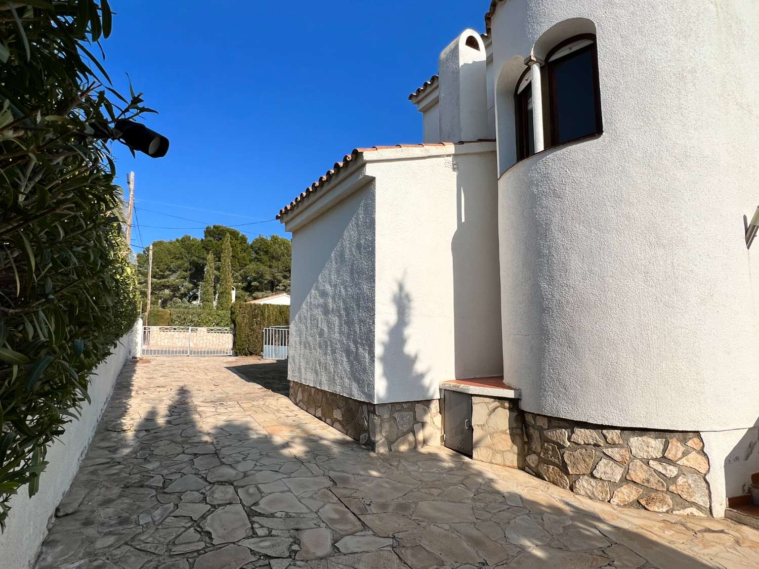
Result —
[{"label": "stone base wrapping the corner of the low tile-roofed wing", "polygon": [[374,404],[298,382],[290,382],[290,399],[378,453],[441,444],[442,417],[436,399]]}]

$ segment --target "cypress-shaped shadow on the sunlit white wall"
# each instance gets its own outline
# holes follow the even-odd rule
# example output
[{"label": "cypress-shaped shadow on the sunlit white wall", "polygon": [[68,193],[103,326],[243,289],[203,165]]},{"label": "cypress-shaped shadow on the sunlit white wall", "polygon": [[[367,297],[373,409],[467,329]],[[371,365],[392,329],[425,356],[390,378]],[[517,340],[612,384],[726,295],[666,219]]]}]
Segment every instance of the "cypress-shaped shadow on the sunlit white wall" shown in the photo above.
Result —
[{"label": "cypress-shaped shadow on the sunlit white wall", "polygon": [[382,353],[377,358],[382,365],[383,374],[377,375],[375,385],[376,401],[383,401],[389,394],[391,385],[420,384],[430,387],[432,379],[429,377],[429,369],[420,371],[417,369],[418,354],[408,351],[408,326],[411,323],[411,294],[408,294],[403,281],[398,281],[398,288],[392,295],[395,304],[395,323],[385,334]]}]

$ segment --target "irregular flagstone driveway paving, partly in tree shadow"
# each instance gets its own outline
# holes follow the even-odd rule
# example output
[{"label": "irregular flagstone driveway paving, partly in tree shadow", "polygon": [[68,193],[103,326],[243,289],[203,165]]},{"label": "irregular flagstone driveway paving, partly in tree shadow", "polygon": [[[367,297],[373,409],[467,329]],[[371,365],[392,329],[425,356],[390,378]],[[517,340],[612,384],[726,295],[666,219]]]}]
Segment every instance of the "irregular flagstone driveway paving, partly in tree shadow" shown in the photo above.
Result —
[{"label": "irregular flagstone driveway paving, partly in tree shadow", "polygon": [[759,533],[728,520],[615,508],[445,448],[371,454],[294,407],[284,369],[128,364],[36,569],[759,567]]}]

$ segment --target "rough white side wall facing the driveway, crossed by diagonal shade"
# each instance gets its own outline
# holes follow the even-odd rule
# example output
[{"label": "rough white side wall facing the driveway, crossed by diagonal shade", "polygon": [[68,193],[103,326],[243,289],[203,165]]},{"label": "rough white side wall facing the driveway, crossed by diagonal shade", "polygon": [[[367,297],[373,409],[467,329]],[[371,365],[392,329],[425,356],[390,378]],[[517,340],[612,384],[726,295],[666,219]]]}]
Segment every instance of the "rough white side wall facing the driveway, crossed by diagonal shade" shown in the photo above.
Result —
[{"label": "rough white side wall facing the driveway, crossed by diagonal shade", "polygon": [[361,401],[374,398],[374,199],[365,185],[292,236],[288,378]]}]

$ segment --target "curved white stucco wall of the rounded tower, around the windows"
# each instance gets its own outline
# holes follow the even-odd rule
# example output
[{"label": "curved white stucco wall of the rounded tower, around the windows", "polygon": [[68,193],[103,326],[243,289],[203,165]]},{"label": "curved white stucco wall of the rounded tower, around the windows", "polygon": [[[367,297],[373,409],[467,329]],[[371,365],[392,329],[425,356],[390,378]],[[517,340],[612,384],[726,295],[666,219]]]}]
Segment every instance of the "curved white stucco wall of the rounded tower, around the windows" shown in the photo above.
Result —
[{"label": "curved white stucco wall of the rounded tower, around the windows", "polygon": [[[604,134],[507,170],[521,61],[577,18],[597,29]],[[754,0],[499,6],[504,373],[525,410],[649,429],[757,423],[759,245],[746,250],[742,222],[759,203],[756,30]]]}]

